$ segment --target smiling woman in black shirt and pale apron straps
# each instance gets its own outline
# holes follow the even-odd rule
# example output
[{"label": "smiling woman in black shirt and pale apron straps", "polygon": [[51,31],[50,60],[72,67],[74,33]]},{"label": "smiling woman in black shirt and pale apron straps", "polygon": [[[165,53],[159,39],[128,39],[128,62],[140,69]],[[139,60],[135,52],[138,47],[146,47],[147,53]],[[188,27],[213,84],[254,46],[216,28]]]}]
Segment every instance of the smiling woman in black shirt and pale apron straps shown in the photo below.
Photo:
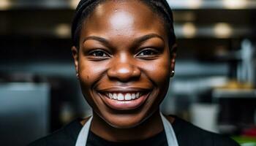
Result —
[{"label": "smiling woman in black shirt and pale apron straps", "polygon": [[77,77],[93,115],[32,145],[237,145],[159,112],[176,59],[165,0],[82,0],[72,40]]}]

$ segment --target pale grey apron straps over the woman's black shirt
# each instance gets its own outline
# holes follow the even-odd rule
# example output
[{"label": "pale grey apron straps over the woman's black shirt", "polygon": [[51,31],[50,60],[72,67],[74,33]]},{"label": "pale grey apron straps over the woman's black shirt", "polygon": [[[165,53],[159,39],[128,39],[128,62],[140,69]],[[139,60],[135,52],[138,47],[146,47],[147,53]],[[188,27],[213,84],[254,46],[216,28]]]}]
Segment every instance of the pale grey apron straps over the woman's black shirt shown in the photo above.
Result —
[{"label": "pale grey apron straps over the woman's black shirt", "polygon": [[[171,126],[170,122],[165,118],[164,115],[162,115],[161,112],[160,112],[160,115],[161,115],[162,123],[164,125],[168,146],[178,146],[176,135],[173,131],[173,126]],[[75,143],[75,146],[86,146],[86,142],[87,142],[88,134],[90,131],[90,126],[91,126],[91,120],[92,120],[92,116],[81,129],[78,135],[77,142]]]}]

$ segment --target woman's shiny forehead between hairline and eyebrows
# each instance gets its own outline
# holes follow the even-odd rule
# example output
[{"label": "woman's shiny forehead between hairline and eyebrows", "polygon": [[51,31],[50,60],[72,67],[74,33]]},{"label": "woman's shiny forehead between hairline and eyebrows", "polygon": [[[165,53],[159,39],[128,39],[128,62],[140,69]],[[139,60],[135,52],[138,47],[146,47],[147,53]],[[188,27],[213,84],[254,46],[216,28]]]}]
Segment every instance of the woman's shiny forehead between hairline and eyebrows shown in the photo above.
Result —
[{"label": "woman's shiny forehead between hairline and eyebrows", "polygon": [[83,23],[81,37],[92,34],[131,36],[141,33],[155,33],[165,37],[162,18],[143,2],[111,0],[95,7]]}]

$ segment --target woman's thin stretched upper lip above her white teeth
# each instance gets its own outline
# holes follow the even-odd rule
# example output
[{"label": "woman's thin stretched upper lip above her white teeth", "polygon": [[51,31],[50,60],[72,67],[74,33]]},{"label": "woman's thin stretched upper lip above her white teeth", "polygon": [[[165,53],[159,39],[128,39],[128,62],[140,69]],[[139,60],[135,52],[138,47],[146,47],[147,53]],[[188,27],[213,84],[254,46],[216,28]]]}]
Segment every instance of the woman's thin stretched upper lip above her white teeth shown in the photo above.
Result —
[{"label": "woman's thin stretched upper lip above her white teeth", "polygon": [[147,91],[151,91],[151,89],[129,86],[129,87],[110,87],[110,88],[98,89],[97,91],[101,93],[131,93],[131,92],[147,92]]}]

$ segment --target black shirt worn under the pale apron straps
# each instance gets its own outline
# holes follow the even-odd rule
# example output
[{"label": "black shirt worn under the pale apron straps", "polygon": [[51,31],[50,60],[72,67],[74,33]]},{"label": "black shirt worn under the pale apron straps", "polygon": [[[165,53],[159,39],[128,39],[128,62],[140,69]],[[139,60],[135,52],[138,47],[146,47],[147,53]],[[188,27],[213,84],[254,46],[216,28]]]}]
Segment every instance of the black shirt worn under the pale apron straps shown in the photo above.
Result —
[{"label": "black shirt worn under the pale apron straps", "polygon": [[[175,117],[175,119],[176,120],[173,122],[172,126],[179,146],[238,146],[238,144],[229,137],[205,131],[180,118]],[[80,120],[75,120],[64,128],[61,128],[59,131],[31,143],[29,146],[75,146],[75,142],[82,127]],[[90,131],[86,146],[108,145],[165,146],[167,145],[167,139],[165,131],[162,131],[154,137],[138,142],[108,142]]]}]

